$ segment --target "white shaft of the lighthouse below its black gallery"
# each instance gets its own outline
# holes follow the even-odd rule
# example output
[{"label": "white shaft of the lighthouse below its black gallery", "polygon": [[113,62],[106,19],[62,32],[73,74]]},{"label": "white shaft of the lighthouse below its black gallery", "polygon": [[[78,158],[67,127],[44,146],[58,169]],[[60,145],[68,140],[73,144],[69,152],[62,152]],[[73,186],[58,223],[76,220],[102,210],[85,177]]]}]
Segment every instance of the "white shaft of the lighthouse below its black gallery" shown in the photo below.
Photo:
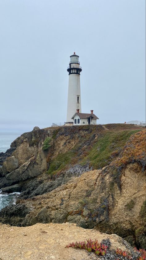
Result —
[{"label": "white shaft of the lighthouse below its black gallery", "polygon": [[[77,96],[79,96],[79,103],[77,103]],[[68,88],[68,104],[67,104],[67,122],[72,122],[71,119],[76,113],[77,109],[81,113],[81,90],[80,90],[80,75],[69,75],[69,88]]]}]

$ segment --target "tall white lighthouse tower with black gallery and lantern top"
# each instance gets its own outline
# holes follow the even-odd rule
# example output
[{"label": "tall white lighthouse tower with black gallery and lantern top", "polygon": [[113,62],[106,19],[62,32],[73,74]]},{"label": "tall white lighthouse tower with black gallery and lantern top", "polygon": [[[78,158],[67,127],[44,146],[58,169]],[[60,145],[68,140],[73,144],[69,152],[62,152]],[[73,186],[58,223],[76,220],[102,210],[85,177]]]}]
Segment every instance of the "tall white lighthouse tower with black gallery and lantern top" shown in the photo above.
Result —
[{"label": "tall white lighthouse tower with black gallery and lantern top", "polygon": [[71,119],[74,113],[79,109],[81,113],[81,90],[80,90],[80,72],[82,71],[79,56],[74,52],[70,56],[69,67],[69,88],[68,88],[68,104],[67,104],[67,120],[66,125],[73,125]]}]

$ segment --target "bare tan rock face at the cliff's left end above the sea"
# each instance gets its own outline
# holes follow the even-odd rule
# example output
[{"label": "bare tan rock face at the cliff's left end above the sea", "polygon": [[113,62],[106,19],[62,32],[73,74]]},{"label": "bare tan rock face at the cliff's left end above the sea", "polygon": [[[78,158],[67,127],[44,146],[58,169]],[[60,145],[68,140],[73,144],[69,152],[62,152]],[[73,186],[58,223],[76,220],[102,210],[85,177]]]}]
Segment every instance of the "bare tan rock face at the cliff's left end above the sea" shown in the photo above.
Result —
[{"label": "bare tan rock face at the cliff's left end above the sea", "polygon": [[0,188],[35,177],[47,169],[42,143],[48,134],[45,130],[33,130],[22,134],[11,144],[15,151],[0,168]]}]

